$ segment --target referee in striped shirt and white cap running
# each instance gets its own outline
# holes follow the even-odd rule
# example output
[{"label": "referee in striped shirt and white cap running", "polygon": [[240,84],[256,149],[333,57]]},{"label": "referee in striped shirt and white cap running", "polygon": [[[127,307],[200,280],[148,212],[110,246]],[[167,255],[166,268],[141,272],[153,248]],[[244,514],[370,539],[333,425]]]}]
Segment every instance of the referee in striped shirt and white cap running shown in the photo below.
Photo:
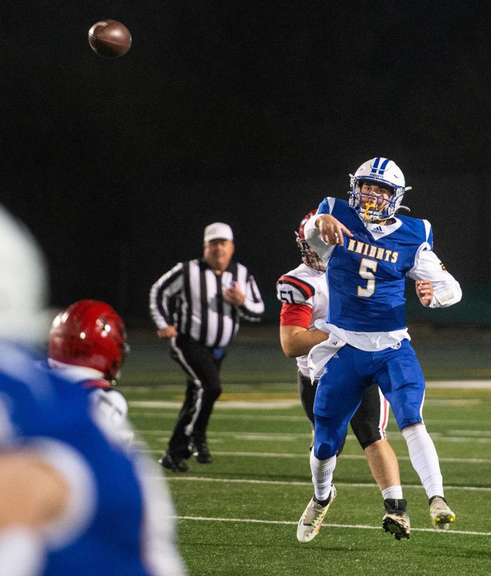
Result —
[{"label": "referee in striped shirt and white cap running", "polygon": [[220,366],[243,318],[259,321],[264,304],[248,269],[232,260],[234,236],[228,224],[204,230],[202,259],[180,262],[150,290],[150,313],[159,338],[169,338],[171,357],[188,377],[186,398],[159,463],[188,470],[194,451],[200,464],[212,461],[206,429],[222,392]]}]

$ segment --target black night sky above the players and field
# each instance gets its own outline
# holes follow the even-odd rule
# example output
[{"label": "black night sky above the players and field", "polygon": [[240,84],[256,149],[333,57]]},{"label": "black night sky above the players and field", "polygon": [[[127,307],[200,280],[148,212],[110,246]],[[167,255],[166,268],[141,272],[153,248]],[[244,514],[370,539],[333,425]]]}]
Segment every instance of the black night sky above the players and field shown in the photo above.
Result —
[{"label": "black night sky above the players and field", "polygon": [[[379,155],[479,293],[490,16],[486,2],[418,0],[2,2],[0,198],[48,256],[51,304],[100,298],[146,319],[151,284],[201,254],[213,221],[274,301],[300,219]],[[104,18],[132,33],[123,58],[87,43]]]}]

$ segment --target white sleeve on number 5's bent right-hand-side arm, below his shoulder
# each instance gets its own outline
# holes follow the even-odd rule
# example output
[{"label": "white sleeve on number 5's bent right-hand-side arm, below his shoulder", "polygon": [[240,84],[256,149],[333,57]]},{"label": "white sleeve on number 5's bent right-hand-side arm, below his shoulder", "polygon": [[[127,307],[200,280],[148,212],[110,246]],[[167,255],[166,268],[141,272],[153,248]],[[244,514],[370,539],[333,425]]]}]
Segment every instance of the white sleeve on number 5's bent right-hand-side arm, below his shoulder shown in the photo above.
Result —
[{"label": "white sleeve on number 5's bent right-hand-side arm, below his shoulder", "polygon": [[429,245],[421,244],[414,259],[414,266],[409,270],[409,278],[413,280],[429,280],[433,286],[433,300],[429,308],[447,308],[460,302],[462,290],[440,262],[439,257],[429,250]]}]

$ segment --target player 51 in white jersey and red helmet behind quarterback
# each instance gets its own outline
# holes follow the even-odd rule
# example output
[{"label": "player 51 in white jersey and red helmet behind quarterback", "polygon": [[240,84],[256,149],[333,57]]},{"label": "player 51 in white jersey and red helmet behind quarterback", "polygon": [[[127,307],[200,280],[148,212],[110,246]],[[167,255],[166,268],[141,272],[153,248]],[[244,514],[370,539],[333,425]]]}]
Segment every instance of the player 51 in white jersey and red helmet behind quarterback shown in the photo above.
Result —
[{"label": "player 51 in white jersey and red helmet behind quarterback", "polygon": [[[284,353],[296,357],[298,365],[297,382],[303,409],[314,428],[314,398],[318,380],[310,381],[307,357],[310,349],[327,340],[329,334],[315,328],[315,320],[325,319],[328,309],[328,289],[325,279],[326,266],[313,248],[307,245],[303,229],[315,214],[312,210],[300,222],[296,234],[296,244],[302,253],[302,264],[284,274],[277,281],[277,297],[283,306],[280,316],[280,340]],[[378,386],[372,384],[366,389],[360,407],[351,419],[351,427],[367,457],[368,465],[378,484],[382,496],[395,498],[401,490],[399,466],[394,450],[387,441],[386,426],[389,419],[389,403]],[[344,441],[338,454],[341,453]],[[333,486],[331,502],[336,497]],[[409,516],[389,518],[383,522],[397,522],[401,532],[409,535]]]}]

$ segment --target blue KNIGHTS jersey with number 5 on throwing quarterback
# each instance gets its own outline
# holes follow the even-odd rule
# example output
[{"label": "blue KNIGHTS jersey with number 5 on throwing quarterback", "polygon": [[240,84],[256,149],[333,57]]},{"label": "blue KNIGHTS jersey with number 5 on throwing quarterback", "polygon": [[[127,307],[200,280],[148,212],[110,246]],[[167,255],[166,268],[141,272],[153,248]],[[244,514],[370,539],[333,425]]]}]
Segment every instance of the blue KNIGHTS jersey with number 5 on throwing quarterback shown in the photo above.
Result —
[{"label": "blue KNIGHTS jersey with number 5 on throwing quarterback", "polygon": [[353,332],[404,329],[406,272],[422,244],[432,249],[431,226],[398,216],[388,228],[374,224],[366,228],[348,202],[333,200],[323,200],[318,213],[332,214],[353,238],[345,236],[344,246],[336,245],[327,264],[326,322]]}]

